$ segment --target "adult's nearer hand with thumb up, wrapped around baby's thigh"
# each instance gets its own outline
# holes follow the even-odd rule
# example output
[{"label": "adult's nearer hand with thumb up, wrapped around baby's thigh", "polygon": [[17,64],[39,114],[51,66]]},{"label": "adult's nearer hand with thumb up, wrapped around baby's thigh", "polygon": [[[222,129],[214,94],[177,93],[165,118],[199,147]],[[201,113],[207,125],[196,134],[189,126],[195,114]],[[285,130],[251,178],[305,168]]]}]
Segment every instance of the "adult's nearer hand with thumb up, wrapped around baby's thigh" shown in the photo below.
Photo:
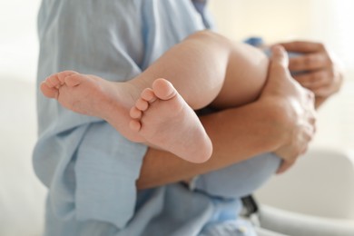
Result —
[{"label": "adult's nearer hand with thumb up, wrapped around baby's thigh", "polygon": [[260,98],[279,108],[277,122],[284,135],[284,143],[275,151],[283,159],[279,172],[285,172],[306,152],[316,130],[314,95],[291,77],[288,65],[284,49],[274,46],[268,81]]}]

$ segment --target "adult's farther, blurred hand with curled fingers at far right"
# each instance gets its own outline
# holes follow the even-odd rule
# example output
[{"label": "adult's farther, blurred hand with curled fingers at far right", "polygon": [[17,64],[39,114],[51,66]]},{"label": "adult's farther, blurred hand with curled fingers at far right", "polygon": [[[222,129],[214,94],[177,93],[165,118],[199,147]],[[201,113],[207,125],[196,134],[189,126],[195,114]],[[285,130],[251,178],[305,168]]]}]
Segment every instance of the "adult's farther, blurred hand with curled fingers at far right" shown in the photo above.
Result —
[{"label": "adult's farther, blurred hand with curled fingers at far right", "polygon": [[317,105],[339,91],[343,75],[323,44],[294,41],[281,45],[288,52],[302,54],[290,58],[289,69],[306,72],[295,74],[294,78],[315,94]]}]

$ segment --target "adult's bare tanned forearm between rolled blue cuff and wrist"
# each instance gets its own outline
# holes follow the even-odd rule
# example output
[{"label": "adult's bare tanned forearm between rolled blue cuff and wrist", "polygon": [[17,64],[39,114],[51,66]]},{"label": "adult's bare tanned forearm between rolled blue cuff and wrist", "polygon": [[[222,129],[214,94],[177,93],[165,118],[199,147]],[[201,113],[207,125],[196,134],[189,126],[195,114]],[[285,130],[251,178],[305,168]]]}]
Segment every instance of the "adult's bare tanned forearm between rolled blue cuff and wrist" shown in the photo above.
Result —
[{"label": "adult's bare tanned forearm between rolled blue cuff and wrist", "polygon": [[276,106],[255,102],[246,106],[202,116],[211,137],[213,153],[204,163],[185,162],[170,152],[149,148],[144,157],[138,189],[152,188],[219,170],[277,149],[282,133],[277,124]]}]

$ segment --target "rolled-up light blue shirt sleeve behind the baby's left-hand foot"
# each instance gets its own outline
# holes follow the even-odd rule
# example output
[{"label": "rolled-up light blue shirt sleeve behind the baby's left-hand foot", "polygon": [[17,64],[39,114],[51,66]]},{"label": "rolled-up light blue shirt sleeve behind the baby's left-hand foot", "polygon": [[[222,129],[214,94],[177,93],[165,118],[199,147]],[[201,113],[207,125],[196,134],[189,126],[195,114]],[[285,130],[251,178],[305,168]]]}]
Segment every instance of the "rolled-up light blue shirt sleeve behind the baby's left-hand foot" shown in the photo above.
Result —
[{"label": "rolled-up light blue shirt sleeve behind the baby's left-hand foot", "polygon": [[[44,0],[38,15],[37,85],[74,70],[123,82],[142,72],[138,1]],[[65,110],[37,93],[39,139],[34,170],[49,188],[55,216],[112,223],[130,220],[146,146],[99,118]]]}]

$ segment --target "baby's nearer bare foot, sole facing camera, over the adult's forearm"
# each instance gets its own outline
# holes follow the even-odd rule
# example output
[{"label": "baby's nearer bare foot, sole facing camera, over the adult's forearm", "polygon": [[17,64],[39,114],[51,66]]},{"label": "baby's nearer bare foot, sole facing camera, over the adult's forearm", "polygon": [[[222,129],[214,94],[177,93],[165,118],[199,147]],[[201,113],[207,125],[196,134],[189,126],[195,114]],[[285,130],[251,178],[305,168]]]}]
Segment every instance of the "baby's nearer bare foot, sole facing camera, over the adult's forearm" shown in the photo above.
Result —
[{"label": "baby's nearer bare foot, sole facing camera, over the adult's forearm", "polygon": [[130,127],[153,147],[188,162],[206,162],[212,144],[192,108],[170,82],[157,79],[131,109]]}]

